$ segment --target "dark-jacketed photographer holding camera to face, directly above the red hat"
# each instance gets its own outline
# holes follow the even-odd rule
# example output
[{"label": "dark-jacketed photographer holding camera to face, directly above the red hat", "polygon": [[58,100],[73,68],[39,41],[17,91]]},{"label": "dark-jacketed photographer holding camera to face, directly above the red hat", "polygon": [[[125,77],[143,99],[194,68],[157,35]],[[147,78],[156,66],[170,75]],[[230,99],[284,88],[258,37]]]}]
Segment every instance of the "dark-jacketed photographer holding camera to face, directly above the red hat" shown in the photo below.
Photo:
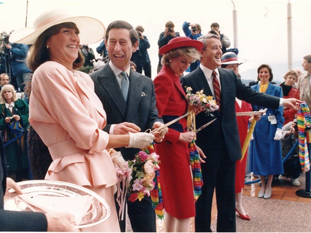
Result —
[{"label": "dark-jacketed photographer holding camera to face, directly above the red hat", "polygon": [[[180,36],[179,32],[175,32],[174,27],[175,25],[172,21],[167,21],[165,23],[165,31],[160,33],[159,40],[158,40],[159,49],[163,47],[164,45],[167,45],[171,39]],[[158,64],[157,73],[159,73],[160,70],[162,69],[161,59],[162,59],[162,55],[159,53],[159,64]]]}]

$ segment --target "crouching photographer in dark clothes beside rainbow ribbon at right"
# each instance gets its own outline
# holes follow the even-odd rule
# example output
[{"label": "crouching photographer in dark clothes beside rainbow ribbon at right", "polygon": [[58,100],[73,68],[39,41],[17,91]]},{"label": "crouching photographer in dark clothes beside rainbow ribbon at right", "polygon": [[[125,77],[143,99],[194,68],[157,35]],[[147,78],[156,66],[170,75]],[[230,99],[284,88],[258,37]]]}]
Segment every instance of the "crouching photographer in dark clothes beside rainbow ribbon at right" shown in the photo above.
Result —
[{"label": "crouching photographer in dark clothes beside rainbow ribbon at right", "polygon": [[[281,138],[281,148],[283,159],[288,154],[290,149],[295,144],[298,139],[298,126],[297,121],[290,121],[282,127],[282,138]],[[295,152],[285,161],[284,176],[290,178],[291,184],[294,186],[299,186],[300,182],[298,180],[300,173],[302,172],[300,162],[299,162],[299,147],[295,148]],[[283,175],[279,176],[279,180],[285,179]]]}]

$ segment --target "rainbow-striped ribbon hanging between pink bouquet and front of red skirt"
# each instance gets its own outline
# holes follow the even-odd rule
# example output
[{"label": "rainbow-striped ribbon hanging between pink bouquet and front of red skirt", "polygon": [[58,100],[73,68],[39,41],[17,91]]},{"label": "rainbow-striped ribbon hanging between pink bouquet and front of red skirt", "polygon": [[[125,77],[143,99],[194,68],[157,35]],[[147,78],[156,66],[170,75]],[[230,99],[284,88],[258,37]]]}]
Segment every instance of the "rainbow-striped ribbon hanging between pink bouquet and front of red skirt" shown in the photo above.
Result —
[{"label": "rainbow-striped ribbon hanging between pink bouquet and front of red skirt", "polygon": [[[155,152],[153,145],[151,144],[144,150],[147,154],[151,154]],[[155,209],[156,215],[162,220],[164,218],[163,213],[163,200],[162,200],[162,193],[161,193],[161,185],[160,185],[160,172],[159,170],[156,171],[156,176],[153,179],[156,183],[153,190],[150,191],[152,207]]]}]

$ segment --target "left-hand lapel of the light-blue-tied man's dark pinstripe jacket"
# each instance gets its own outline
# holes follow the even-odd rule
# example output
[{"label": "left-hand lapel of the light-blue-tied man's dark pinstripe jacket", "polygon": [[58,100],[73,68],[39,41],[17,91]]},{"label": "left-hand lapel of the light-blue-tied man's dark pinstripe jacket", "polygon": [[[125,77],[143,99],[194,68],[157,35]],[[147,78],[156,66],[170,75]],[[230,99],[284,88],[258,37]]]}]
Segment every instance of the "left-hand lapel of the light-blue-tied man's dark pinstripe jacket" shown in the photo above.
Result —
[{"label": "left-hand lapel of the light-blue-tied man's dark pinstripe jacket", "polygon": [[97,76],[97,79],[103,86],[104,90],[110,96],[112,102],[114,102],[122,117],[125,118],[124,109],[126,109],[126,104],[124,101],[124,97],[118,84],[117,78],[114,75],[114,72],[111,70],[109,63],[104,66],[100,74]]}]

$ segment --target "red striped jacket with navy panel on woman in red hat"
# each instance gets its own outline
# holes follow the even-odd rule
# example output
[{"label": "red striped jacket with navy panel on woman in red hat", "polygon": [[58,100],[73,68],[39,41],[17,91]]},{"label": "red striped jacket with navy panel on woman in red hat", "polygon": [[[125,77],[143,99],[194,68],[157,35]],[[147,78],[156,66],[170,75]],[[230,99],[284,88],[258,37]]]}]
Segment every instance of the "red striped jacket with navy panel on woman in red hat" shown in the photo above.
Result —
[{"label": "red striped jacket with navy panel on woman in red hat", "polygon": [[[162,117],[164,123],[174,120],[187,112],[188,102],[180,84],[179,76],[175,75],[169,66],[164,65],[153,82],[156,93],[156,107],[159,117]],[[169,126],[169,131],[165,134],[165,140],[170,143],[177,143],[180,133],[185,132],[186,126],[186,118]]]}]

